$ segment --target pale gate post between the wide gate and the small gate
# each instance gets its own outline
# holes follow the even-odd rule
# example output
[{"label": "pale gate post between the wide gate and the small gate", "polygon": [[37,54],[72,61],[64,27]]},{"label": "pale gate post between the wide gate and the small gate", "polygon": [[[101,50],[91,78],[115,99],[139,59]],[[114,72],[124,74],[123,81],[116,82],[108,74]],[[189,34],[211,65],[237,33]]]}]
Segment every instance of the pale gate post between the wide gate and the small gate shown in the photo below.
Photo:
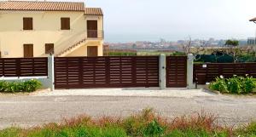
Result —
[{"label": "pale gate post between the wide gate and the small gate", "polygon": [[159,57],[159,85],[160,89],[166,88],[166,54]]}]

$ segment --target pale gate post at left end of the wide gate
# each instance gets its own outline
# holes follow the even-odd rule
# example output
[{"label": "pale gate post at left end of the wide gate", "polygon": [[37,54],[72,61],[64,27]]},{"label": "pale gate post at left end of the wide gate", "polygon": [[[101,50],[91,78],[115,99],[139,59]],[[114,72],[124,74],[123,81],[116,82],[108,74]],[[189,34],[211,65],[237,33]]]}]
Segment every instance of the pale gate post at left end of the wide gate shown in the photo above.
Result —
[{"label": "pale gate post at left end of the wide gate", "polygon": [[55,90],[55,56],[49,55],[48,57],[48,84],[50,91]]}]

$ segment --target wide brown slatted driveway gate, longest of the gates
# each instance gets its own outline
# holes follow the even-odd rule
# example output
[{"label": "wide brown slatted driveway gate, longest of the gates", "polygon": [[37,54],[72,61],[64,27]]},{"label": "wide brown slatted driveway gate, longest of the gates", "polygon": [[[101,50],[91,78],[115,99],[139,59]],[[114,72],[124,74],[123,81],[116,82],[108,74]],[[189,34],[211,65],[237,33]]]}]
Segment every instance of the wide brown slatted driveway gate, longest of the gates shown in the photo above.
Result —
[{"label": "wide brown slatted driveway gate, longest of the gates", "polygon": [[159,57],[57,57],[55,88],[159,87]]}]

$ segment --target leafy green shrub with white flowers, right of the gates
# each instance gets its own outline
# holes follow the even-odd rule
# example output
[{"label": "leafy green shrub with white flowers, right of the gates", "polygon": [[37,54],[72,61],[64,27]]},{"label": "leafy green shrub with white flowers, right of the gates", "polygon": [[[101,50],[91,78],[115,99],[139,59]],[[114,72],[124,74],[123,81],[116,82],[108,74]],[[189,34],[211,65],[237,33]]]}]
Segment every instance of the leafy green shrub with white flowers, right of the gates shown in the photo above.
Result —
[{"label": "leafy green shrub with white flowers, right of the gates", "polygon": [[253,77],[216,77],[210,84],[210,88],[221,93],[249,94],[253,92],[253,88],[256,88],[256,83]]}]

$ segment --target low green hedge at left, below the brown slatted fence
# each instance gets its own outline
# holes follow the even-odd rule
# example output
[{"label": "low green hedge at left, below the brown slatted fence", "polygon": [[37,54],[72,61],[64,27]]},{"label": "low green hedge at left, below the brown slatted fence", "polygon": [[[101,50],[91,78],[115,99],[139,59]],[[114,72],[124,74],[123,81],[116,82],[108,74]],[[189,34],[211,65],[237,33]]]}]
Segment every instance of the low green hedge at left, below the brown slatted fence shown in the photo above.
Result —
[{"label": "low green hedge at left, below the brown slatted fence", "polygon": [[41,88],[42,83],[38,80],[30,80],[21,83],[15,82],[0,82],[0,92],[2,93],[15,93],[15,92],[33,92]]}]

